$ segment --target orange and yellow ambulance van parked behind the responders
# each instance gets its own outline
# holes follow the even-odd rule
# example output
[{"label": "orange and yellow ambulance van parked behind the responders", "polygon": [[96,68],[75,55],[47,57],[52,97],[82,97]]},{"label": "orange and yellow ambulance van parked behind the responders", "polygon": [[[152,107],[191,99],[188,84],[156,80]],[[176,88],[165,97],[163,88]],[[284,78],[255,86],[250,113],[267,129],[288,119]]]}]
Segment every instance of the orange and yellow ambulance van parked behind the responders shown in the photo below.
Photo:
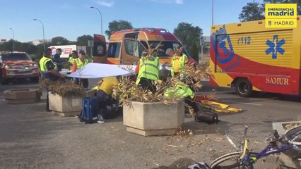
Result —
[{"label": "orange and yellow ambulance van parked behind the responders", "polygon": [[[113,32],[107,46],[107,53],[102,58],[95,57],[95,62],[102,62],[117,65],[136,65],[142,56],[142,52],[148,46],[163,45],[158,57],[161,64],[170,66],[171,57],[167,56],[167,49],[175,49],[182,46],[179,39],[163,28],[138,28],[133,30],[122,30]],[[184,54],[188,56],[189,63],[196,63],[184,49]]]}]

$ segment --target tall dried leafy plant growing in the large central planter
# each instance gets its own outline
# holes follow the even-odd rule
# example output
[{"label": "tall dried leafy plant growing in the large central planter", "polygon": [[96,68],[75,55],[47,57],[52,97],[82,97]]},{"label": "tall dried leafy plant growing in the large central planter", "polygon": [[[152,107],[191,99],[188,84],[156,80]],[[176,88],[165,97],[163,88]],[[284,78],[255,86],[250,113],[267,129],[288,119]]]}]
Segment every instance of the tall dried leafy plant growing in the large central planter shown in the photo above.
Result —
[{"label": "tall dried leafy plant growing in the large central planter", "polygon": [[[155,56],[160,47],[160,43],[155,47],[155,49],[149,49],[144,51],[144,57]],[[120,68],[133,72],[131,68],[126,66],[120,66]],[[186,84],[189,84],[191,87],[197,91],[201,88],[201,80],[208,79],[210,75],[210,69],[206,64],[201,65],[192,65],[188,64],[184,68],[186,75]],[[119,96],[119,102],[126,104],[126,106],[131,106],[131,101],[141,101],[141,102],[164,102],[169,104],[173,101],[178,101],[179,98],[176,97],[165,97],[164,92],[168,87],[175,89],[177,84],[180,82],[179,75],[175,77],[168,78],[167,81],[156,80],[155,86],[157,88],[156,92],[153,94],[148,90],[143,90],[141,87],[136,85],[136,82],[131,80],[131,77],[122,77],[119,84],[114,87],[114,95]]]}]

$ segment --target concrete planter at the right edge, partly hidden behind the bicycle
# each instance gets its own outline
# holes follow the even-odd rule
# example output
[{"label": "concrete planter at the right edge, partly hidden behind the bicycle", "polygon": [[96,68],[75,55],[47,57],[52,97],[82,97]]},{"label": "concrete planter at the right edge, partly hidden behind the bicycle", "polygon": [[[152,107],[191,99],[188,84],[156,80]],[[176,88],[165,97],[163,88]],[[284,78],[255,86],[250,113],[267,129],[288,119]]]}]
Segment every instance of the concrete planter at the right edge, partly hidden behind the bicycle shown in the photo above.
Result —
[{"label": "concrete planter at the right edge, partly hidden behind the bicycle", "polygon": [[[282,135],[285,134],[285,126],[288,125],[300,125],[301,121],[289,121],[289,122],[279,122],[273,123],[273,130]],[[288,150],[281,153],[278,157],[278,167],[279,168],[292,168],[299,169],[301,168],[301,151],[297,150]]]}]

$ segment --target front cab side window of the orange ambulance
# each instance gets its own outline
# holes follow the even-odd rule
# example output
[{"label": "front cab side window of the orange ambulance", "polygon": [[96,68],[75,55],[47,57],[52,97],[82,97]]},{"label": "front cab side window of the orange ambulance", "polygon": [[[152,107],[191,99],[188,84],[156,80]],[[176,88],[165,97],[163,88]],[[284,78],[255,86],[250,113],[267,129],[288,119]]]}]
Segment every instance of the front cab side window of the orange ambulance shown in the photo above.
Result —
[{"label": "front cab side window of the orange ambulance", "polygon": [[128,39],[126,39],[124,41],[124,48],[125,48],[126,54],[128,54],[130,56],[135,56],[138,58],[141,58],[142,51],[144,50],[144,47],[140,43],[138,43],[136,41],[128,40]]}]

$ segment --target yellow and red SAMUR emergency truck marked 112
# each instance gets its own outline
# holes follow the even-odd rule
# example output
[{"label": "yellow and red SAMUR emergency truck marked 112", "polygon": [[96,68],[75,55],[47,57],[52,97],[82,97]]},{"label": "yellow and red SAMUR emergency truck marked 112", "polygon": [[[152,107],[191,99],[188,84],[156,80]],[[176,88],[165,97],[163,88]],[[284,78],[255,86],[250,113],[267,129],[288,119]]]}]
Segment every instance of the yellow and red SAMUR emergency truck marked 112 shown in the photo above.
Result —
[{"label": "yellow and red SAMUR emergency truck marked 112", "polygon": [[265,20],[211,27],[211,84],[253,91],[301,94],[301,16],[295,28],[266,28]]}]

